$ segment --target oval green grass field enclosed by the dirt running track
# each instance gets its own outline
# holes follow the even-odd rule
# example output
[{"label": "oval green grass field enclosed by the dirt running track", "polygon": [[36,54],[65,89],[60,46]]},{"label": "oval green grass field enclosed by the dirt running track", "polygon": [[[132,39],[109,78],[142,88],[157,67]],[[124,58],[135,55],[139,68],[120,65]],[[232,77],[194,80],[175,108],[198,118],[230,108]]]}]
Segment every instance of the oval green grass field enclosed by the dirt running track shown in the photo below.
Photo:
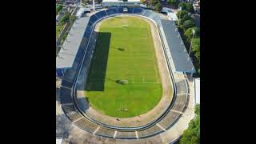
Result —
[{"label": "oval green grass field enclosed by the dirt running track", "polygon": [[102,22],[86,97],[94,109],[118,118],[145,114],[158,104],[162,83],[146,21],[115,17]]}]

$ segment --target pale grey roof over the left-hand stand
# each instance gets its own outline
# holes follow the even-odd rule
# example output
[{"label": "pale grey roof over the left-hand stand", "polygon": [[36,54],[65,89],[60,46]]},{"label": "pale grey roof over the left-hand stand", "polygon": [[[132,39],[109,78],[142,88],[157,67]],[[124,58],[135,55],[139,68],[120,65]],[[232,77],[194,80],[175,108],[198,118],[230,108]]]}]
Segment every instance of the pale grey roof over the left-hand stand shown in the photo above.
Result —
[{"label": "pale grey roof over the left-hand stand", "polygon": [[83,17],[74,22],[73,28],[71,28],[70,33],[67,35],[63,47],[56,58],[57,69],[72,67],[89,19],[90,17]]}]

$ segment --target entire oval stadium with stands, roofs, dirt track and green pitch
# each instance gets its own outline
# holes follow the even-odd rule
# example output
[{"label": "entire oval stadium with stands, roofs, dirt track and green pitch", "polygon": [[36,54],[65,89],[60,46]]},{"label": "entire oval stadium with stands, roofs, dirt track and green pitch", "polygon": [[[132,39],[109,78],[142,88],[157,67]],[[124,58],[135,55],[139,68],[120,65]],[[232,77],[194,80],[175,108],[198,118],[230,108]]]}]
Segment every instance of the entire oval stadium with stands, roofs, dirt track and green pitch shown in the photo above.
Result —
[{"label": "entire oval stadium with stands, roofs, dirt track and green pitch", "polygon": [[193,118],[194,66],[174,21],[154,11],[112,7],[79,18],[56,64],[63,113],[90,137],[169,143],[178,121]]}]

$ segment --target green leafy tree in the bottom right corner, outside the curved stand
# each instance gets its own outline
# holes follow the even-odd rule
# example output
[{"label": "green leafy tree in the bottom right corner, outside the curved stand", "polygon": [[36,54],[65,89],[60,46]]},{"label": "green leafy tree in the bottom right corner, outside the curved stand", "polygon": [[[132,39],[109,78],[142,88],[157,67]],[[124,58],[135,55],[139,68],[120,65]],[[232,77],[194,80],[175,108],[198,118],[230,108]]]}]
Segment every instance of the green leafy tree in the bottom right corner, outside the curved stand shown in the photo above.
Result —
[{"label": "green leafy tree in the bottom right corner, outside the curved stand", "polygon": [[195,118],[190,121],[188,129],[184,130],[182,134],[181,144],[200,143],[200,105],[195,106],[194,113],[196,114]]}]

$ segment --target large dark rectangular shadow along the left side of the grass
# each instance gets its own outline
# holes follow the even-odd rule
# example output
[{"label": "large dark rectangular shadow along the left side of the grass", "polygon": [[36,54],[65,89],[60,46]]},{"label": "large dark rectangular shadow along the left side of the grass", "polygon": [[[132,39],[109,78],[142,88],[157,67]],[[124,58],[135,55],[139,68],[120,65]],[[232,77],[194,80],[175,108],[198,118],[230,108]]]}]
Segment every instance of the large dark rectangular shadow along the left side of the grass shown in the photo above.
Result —
[{"label": "large dark rectangular shadow along the left side of the grass", "polygon": [[99,32],[94,57],[86,82],[87,91],[103,91],[106,77],[106,65],[110,50],[111,33]]}]

